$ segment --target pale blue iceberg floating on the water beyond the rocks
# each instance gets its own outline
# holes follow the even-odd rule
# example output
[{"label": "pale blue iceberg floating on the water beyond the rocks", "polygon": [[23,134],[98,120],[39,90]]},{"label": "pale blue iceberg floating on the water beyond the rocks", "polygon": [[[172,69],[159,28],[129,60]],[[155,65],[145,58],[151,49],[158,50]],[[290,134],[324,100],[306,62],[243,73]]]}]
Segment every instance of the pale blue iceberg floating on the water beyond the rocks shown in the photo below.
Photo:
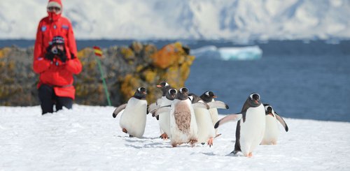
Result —
[{"label": "pale blue iceberg floating on the water beyond the rocks", "polygon": [[258,45],[219,48],[214,45],[209,45],[191,50],[191,55],[198,59],[220,59],[223,61],[255,60],[262,57],[262,50]]}]

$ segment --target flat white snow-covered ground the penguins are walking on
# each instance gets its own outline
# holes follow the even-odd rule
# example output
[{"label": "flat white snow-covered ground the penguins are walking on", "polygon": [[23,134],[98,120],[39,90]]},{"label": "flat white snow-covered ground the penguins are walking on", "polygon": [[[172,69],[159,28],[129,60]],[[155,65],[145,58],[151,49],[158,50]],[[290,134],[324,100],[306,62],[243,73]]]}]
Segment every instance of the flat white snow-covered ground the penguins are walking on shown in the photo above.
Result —
[{"label": "flat white snow-covered ground the penguins are walking on", "polygon": [[[214,146],[161,140],[147,116],[144,137],[120,130],[115,107],[73,105],[41,116],[39,106],[0,107],[0,170],[349,170],[350,123],[285,118],[277,145],[234,157],[236,123],[219,128]],[[220,115],[219,118],[223,117]],[[283,116],[282,116],[283,117]]]}]

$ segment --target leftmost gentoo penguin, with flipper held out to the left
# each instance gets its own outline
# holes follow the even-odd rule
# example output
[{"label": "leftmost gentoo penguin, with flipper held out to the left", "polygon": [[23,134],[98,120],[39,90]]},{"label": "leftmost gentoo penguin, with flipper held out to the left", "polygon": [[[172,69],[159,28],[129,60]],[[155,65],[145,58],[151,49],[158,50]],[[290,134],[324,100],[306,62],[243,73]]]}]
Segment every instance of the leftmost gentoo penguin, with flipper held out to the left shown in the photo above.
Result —
[{"label": "leftmost gentoo penguin, with flipper held out to the left", "polygon": [[126,104],[120,105],[113,112],[113,117],[116,117],[119,112],[124,110],[119,125],[123,132],[128,133],[130,137],[144,135],[147,114],[146,94],[146,89],[139,87]]}]

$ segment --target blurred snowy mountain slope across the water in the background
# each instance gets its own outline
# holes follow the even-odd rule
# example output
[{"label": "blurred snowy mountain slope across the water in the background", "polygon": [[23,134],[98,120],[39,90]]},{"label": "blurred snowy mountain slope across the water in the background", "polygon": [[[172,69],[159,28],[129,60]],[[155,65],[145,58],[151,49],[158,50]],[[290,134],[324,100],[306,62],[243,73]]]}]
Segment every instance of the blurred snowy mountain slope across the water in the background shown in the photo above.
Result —
[{"label": "blurred snowy mountain slope across the water in the background", "polygon": [[[1,0],[0,39],[34,39],[47,0]],[[79,39],[349,39],[348,0],[64,1]]]}]

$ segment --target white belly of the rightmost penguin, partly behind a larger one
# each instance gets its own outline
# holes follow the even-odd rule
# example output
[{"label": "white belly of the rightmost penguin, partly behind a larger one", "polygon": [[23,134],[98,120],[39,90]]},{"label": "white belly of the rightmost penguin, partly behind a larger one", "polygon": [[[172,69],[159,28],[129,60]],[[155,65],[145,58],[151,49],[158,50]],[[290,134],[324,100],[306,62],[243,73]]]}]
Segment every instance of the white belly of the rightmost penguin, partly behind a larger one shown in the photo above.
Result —
[{"label": "white belly of the rightmost penguin, partly behind a larger one", "polygon": [[276,117],[267,114],[265,135],[261,144],[276,144],[280,133]]}]

